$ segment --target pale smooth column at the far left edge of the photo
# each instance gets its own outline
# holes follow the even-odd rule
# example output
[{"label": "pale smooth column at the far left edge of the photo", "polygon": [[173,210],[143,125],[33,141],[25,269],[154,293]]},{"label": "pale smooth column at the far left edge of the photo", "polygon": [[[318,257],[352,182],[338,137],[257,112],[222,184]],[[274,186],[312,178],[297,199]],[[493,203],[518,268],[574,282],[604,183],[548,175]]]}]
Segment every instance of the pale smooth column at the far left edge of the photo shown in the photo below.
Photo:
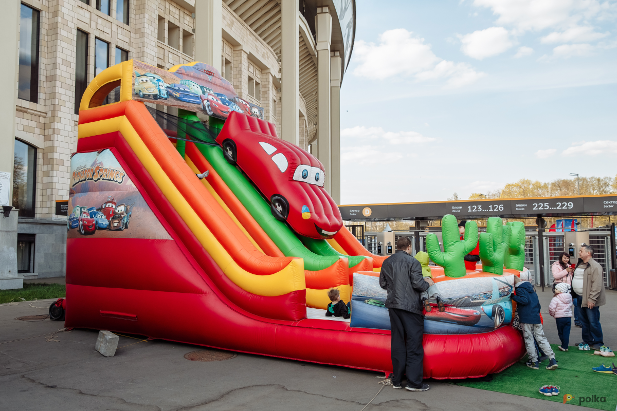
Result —
[{"label": "pale smooth column at the far left edge of the photo", "polygon": [[[15,152],[15,104],[17,103],[17,65],[19,52],[20,2],[9,1],[2,7],[6,18],[0,24],[0,38],[6,53],[2,53],[0,78],[6,81],[6,96],[0,99],[0,172],[9,174],[9,179],[0,177],[0,205],[13,204],[13,156]],[[2,174],[6,177],[6,174]],[[17,221],[17,219],[15,219]],[[15,239],[15,245],[17,239]],[[15,252],[15,251],[13,251]],[[15,260],[17,264],[17,260]],[[15,271],[17,275],[17,271]]]}]

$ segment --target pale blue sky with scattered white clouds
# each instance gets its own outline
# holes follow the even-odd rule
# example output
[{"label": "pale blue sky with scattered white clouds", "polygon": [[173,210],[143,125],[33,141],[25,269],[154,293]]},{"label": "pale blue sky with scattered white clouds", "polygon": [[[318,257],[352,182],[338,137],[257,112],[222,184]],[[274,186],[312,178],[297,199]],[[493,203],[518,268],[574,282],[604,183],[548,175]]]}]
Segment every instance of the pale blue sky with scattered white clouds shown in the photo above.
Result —
[{"label": "pale blue sky with scattered white clouds", "polygon": [[356,7],[341,204],[617,174],[617,0]]}]

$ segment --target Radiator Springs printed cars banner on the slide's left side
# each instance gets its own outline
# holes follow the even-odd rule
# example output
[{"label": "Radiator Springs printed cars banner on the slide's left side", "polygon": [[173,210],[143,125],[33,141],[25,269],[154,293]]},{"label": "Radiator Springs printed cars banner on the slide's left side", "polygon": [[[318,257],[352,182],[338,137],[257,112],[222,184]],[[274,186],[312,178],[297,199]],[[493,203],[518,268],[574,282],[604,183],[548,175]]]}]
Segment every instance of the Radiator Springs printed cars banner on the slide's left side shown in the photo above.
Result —
[{"label": "Radiator Springs printed cars banner on the slide's left side", "polygon": [[110,150],[71,158],[67,238],[171,240]]}]

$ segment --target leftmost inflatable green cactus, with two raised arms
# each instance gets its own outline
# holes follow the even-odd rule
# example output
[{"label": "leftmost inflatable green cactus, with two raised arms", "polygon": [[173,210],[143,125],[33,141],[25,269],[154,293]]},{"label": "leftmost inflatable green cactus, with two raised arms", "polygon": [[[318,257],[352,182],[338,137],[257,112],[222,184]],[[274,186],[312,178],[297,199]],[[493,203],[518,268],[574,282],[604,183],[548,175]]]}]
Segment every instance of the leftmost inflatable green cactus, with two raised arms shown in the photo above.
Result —
[{"label": "leftmost inflatable green cactus, with two raised arms", "polygon": [[439,240],[434,234],[426,236],[426,251],[438,266],[444,267],[447,277],[463,277],[465,272],[465,256],[478,244],[478,224],[468,221],[465,224],[465,238],[460,240],[457,218],[446,214],[441,221],[441,234],[444,240],[444,251],[439,248]]}]

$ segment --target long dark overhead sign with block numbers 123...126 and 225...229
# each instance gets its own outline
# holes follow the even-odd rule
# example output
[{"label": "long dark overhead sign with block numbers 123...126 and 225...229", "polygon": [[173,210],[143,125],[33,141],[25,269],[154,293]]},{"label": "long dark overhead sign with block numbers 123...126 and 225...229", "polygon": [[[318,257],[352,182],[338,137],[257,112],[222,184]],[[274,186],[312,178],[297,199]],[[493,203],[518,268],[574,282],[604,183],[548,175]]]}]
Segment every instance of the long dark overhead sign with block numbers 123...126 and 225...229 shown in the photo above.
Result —
[{"label": "long dark overhead sign with block numbers 123...126 and 225...229", "polygon": [[[507,200],[439,201],[339,206],[341,216],[350,221],[457,218],[529,218],[617,214],[617,196],[515,198]],[[370,210],[367,213],[366,210]]]}]

